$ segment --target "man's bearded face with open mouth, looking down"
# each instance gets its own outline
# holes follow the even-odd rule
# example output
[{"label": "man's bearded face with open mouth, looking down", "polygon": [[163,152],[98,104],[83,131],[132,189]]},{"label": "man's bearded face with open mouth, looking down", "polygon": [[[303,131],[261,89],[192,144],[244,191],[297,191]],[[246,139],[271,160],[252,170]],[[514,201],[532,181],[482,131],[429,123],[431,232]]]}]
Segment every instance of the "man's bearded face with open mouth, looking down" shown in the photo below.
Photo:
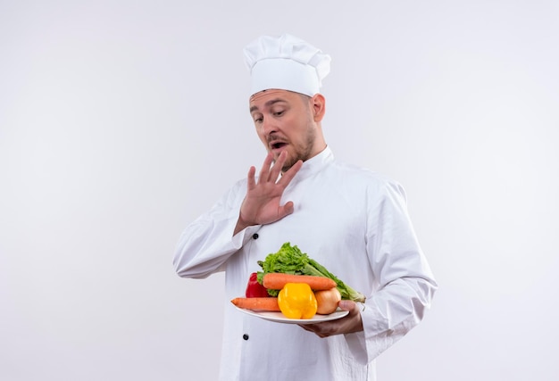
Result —
[{"label": "man's bearded face with open mouth, looking down", "polygon": [[282,151],[288,152],[283,171],[298,160],[305,162],[324,148],[320,144],[320,127],[313,119],[313,106],[305,95],[265,90],[251,96],[249,105],[258,137],[268,152],[273,153],[274,161]]}]

